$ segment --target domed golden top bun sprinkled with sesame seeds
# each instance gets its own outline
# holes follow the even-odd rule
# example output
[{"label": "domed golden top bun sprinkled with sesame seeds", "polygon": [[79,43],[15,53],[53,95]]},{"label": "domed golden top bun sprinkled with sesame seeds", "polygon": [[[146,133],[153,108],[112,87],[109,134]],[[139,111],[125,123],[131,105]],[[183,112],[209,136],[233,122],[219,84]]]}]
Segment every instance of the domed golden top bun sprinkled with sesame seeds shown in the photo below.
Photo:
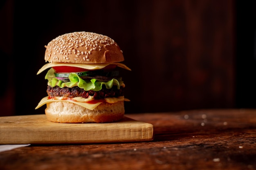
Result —
[{"label": "domed golden top bun sprinkled with sesame seeds", "polygon": [[105,35],[74,32],[60,35],[45,46],[50,63],[115,63],[124,61],[117,43]]}]

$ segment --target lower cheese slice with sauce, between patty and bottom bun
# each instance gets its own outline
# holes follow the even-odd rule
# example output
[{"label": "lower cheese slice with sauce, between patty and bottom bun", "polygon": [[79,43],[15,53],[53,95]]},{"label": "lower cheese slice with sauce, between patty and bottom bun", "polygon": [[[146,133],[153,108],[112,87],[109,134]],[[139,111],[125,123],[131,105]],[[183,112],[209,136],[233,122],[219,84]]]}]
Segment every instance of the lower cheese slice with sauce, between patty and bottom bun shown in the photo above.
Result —
[{"label": "lower cheese slice with sauce, between patty and bottom bun", "polygon": [[[36,109],[38,109],[39,107],[41,107],[41,106],[43,106],[43,105],[45,105],[46,103],[49,103],[49,102],[71,102],[71,103],[74,103],[76,105],[80,105],[82,107],[85,107],[86,109],[93,110],[103,102],[102,100],[99,100],[99,102],[90,103],[90,101],[92,101],[92,100],[94,100],[92,96],[90,96],[89,98],[54,97],[54,98],[51,98],[51,99],[49,99],[48,96],[46,96],[46,97],[42,98],[42,100],[38,103]],[[118,98],[106,98],[105,101],[108,102],[108,103],[115,103],[115,102],[130,101],[130,100],[124,98],[124,96],[120,96]]]}]

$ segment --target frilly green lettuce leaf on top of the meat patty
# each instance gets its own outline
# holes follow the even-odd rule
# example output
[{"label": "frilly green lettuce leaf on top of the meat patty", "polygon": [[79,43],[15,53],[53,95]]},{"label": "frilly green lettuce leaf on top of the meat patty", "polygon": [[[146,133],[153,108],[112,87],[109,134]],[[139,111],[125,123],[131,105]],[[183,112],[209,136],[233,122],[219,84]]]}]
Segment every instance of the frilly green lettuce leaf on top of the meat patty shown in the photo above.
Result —
[{"label": "frilly green lettuce leaf on top of the meat patty", "polygon": [[78,86],[85,91],[99,91],[102,89],[102,85],[105,85],[107,89],[110,89],[113,85],[116,85],[117,88],[120,89],[120,85],[122,85],[123,83],[121,78],[112,78],[112,80],[107,82],[97,81],[96,79],[83,80],[76,73],[70,73],[68,78],[70,79],[69,82],[63,82],[61,80],[58,80],[54,75],[53,68],[49,69],[47,74],[45,75],[45,79],[48,80],[49,85],[52,87],[55,87],[56,85],[61,88]]}]

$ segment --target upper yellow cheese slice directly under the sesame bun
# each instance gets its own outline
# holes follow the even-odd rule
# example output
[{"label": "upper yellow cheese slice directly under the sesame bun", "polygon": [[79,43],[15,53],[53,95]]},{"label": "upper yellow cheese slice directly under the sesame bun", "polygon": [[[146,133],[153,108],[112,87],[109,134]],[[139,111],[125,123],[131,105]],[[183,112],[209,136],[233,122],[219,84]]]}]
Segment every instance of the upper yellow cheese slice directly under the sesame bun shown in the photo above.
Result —
[{"label": "upper yellow cheese slice directly under the sesame bun", "polygon": [[47,68],[52,68],[52,67],[56,67],[56,66],[70,66],[70,67],[84,68],[84,69],[88,69],[88,70],[97,70],[97,69],[102,69],[102,68],[104,68],[104,67],[106,67],[106,66],[108,66],[110,64],[115,64],[118,67],[124,68],[126,70],[131,70],[130,68],[128,68],[123,63],[103,63],[103,64],[47,63],[47,64],[43,65],[42,68],[39,69],[37,74],[40,74],[41,72],[43,72]]}]

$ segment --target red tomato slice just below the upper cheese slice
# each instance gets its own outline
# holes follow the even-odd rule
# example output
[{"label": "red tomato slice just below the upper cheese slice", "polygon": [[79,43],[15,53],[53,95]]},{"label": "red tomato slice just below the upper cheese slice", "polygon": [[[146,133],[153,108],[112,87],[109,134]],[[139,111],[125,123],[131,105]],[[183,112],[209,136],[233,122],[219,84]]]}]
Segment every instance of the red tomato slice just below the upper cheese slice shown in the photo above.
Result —
[{"label": "red tomato slice just below the upper cheese slice", "polygon": [[[103,70],[112,70],[116,67],[117,67],[117,65],[110,64],[110,65],[107,65],[105,68],[103,68]],[[52,68],[55,70],[56,73],[92,71],[92,70],[88,70],[88,69],[85,69],[85,68],[78,68],[78,67],[71,67],[71,66],[56,66],[56,67],[52,67]]]}]

